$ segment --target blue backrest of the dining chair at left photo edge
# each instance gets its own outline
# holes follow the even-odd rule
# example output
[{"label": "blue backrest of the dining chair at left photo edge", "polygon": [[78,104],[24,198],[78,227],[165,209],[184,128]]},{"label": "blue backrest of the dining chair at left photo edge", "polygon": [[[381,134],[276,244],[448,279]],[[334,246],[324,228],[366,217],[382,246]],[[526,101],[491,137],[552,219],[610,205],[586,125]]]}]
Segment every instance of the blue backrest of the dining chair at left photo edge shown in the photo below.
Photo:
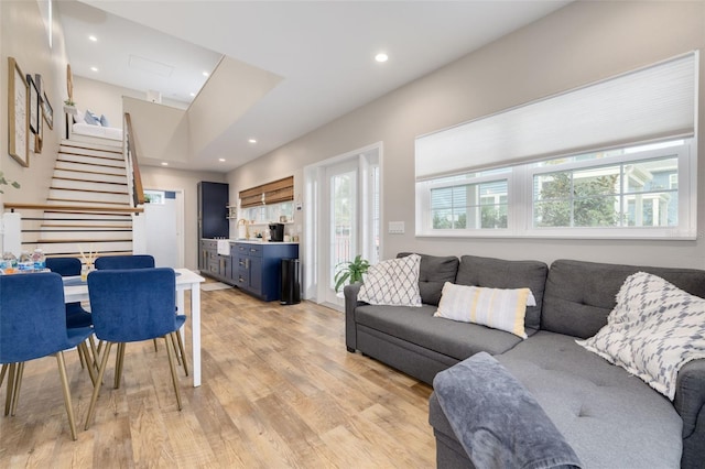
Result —
[{"label": "blue backrest of the dining chair at left photo edge", "polygon": [[33,360],[75,345],[66,332],[61,275],[0,275],[0,363]]}]

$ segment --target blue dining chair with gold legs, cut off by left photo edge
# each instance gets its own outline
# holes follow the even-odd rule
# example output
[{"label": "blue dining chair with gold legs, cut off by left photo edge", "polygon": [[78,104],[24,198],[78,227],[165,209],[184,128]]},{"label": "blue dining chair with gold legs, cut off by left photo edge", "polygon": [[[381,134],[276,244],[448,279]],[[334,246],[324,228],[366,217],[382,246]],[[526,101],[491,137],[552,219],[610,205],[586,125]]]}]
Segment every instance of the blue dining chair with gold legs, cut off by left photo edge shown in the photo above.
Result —
[{"label": "blue dining chair with gold legs, cut off by left photo edge", "polygon": [[[20,397],[24,363],[56,356],[70,435],[76,423],[70,402],[63,351],[78,347],[88,357],[90,327],[66,327],[64,284],[53,272],[0,275],[0,363],[9,366],[6,415],[14,415]],[[95,383],[93,368],[88,367]]]}]

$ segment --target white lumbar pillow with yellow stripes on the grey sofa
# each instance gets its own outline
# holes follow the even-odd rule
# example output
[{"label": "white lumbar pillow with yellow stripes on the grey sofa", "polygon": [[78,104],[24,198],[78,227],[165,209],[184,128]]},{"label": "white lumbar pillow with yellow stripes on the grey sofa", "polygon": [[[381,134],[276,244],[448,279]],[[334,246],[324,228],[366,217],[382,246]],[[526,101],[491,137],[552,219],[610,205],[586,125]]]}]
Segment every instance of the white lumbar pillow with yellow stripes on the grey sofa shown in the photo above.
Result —
[{"label": "white lumbar pillow with yellow stripes on the grey sofa", "polygon": [[527,338],[527,306],[535,306],[529,288],[487,288],[446,282],[435,317],[475,323]]}]

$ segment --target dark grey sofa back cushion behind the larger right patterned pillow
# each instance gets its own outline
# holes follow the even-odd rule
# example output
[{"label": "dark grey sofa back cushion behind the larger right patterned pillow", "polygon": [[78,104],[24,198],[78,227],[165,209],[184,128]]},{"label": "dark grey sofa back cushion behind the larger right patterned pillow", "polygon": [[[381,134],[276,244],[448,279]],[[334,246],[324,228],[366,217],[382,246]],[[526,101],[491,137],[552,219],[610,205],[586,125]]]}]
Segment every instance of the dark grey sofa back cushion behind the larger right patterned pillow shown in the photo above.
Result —
[{"label": "dark grey sofa back cushion behind the larger right patterned pillow", "polygon": [[627,277],[648,272],[692,295],[705,297],[705,271],[557,260],[543,295],[541,329],[587,339],[607,324]]}]

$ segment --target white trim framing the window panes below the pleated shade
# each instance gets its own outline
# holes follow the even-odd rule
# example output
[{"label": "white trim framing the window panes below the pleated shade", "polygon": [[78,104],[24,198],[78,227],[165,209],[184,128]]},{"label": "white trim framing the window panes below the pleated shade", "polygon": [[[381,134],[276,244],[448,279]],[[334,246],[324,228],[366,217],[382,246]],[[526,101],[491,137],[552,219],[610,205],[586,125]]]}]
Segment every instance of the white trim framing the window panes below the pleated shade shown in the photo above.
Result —
[{"label": "white trim framing the window panes below the pleated shade", "polygon": [[[632,146],[632,145],[629,145]],[[595,227],[595,228],[534,228],[533,227],[533,177],[556,171],[616,163],[629,163],[677,155],[679,160],[679,226],[677,227]],[[491,174],[468,178],[467,184],[507,179],[508,227],[489,229],[433,229],[431,189],[456,185],[455,182],[436,183],[419,181],[416,192],[416,237],[430,238],[549,238],[549,239],[652,239],[694,240],[697,237],[697,139],[686,139],[685,144],[665,149],[646,150],[598,161],[571,162],[553,166],[524,163],[511,166],[506,174]]]}]

